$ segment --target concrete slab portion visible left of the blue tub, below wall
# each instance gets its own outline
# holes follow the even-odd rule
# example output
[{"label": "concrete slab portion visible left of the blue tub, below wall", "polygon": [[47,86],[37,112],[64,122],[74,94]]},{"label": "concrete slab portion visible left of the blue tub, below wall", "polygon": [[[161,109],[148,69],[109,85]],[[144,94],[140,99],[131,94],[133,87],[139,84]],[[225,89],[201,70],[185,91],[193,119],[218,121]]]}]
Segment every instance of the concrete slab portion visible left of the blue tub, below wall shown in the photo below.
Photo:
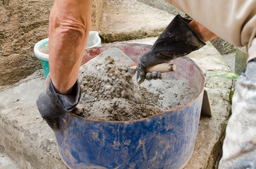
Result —
[{"label": "concrete slab portion visible left of the blue tub, below wall", "polygon": [[21,168],[66,168],[54,132],[42,120],[35,101],[44,91],[42,70],[0,89],[0,146]]}]

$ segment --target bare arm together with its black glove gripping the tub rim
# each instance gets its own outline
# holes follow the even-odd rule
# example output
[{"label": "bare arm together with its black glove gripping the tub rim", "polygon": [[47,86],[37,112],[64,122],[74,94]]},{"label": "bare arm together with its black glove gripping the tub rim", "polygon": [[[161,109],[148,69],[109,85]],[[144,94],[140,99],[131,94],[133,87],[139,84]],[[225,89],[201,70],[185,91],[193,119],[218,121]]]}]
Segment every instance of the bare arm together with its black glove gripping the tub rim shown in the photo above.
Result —
[{"label": "bare arm together with its black glove gripping the tub rim", "polygon": [[49,18],[51,78],[37,99],[37,108],[52,130],[58,118],[73,111],[80,100],[77,81],[91,23],[92,0],[55,0]]}]

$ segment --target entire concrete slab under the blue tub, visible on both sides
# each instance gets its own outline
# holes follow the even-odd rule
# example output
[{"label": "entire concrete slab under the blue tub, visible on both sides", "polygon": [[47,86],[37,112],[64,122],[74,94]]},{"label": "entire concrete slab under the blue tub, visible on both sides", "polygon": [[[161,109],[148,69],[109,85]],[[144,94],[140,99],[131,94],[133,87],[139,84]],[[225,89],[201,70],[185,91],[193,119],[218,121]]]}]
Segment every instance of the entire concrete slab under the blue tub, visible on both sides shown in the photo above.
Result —
[{"label": "entire concrete slab under the blue tub, visible on both sides", "polygon": [[[156,38],[139,39],[154,43]],[[189,55],[205,73],[230,71],[224,58],[207,44]],[[226,119],[231,105],[228,93],[232,82],[211,77],[207,87],[212,104],[212,118],[201,116],[195,151],[185,168],[214,168],[221,156]],[[13,86],[0,88],[0,146],[22,168],[66,168],[56,149],[54,132],[40,117],[35,101],[44,91],[42,70]]]}]

